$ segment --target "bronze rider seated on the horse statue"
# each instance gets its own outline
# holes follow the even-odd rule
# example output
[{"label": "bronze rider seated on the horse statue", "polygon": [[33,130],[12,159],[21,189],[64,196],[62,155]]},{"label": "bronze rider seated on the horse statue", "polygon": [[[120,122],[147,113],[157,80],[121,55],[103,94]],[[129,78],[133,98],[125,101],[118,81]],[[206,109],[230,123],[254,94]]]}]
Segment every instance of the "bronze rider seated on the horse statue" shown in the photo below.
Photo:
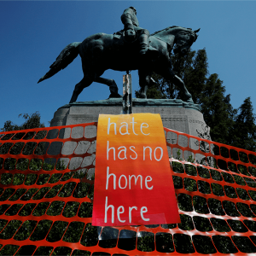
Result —
[{"label": "bronze rider seated on the horse statue", "polygon": [[134,7],[131,6],[125,9],[123,15],[121,16],[121,20],[125,26],[125,39],[127,41],[133,41],[134,38],[136,38],[137,33],[140,44],[140,55],[142,57],[144,57],[148,51],[150,51],[150,54],[154,56],[158,54],[157,49],[154,49],[151,46],[149,47],[148,37],[150,33],[147,29],[139,27],[137,11]]}]

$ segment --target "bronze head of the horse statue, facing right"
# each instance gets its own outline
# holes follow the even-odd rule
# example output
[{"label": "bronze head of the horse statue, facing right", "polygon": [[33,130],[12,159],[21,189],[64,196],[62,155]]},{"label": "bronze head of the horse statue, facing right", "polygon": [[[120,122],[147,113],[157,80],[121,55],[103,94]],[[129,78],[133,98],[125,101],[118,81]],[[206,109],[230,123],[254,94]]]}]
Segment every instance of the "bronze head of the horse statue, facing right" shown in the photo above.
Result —
[{"label": "bronze head of the horse statue, facing right", "polygon": [[180,30],[177,31],[175,36],[174,43],[175,48],[173,49],[174,53],[180,52],[182,55],[186,54],[190,46],[196,41],[198,35],[196,32],[199,32],[200,28],[193,31],[191,28],[180,27]]}]

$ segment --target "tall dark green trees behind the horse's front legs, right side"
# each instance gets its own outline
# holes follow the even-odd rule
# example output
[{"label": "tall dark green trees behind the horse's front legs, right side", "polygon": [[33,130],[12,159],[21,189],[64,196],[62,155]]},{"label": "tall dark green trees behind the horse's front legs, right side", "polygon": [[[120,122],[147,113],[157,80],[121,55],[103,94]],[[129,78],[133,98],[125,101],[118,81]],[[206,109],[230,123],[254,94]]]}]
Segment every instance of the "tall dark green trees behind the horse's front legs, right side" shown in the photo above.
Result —
[{"label": "tall dark green trees behind the horse's front legs, right side", "polygon": [[[195,104],[200,104],[206,124],[211,127],[212,141],[238,148],[256,150],[256,126],[250,97],[241,107],[233,108],[230,94],[217,73],[209,74],[206,49],[189,50],[187,55],[172,55],[172,71],[186,84]],[[148,88],[153,99],[183,98],[175,84],[153,73],[155,84]],[[139,97],[139,91],[136,96]]]}]

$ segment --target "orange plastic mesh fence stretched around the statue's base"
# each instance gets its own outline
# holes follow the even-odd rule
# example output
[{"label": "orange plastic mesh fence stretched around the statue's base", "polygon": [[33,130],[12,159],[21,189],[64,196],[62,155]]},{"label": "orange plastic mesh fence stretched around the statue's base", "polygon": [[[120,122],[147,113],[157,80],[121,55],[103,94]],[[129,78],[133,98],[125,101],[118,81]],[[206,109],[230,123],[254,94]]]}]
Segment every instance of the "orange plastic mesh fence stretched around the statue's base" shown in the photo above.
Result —
[{"label": "orange plastic mesh fence stretched around the statue's base", "polygon": [[96,125],[0,133],[1,255],[256,253],[256,154],[166,128],[182,223],[91,226]]}]

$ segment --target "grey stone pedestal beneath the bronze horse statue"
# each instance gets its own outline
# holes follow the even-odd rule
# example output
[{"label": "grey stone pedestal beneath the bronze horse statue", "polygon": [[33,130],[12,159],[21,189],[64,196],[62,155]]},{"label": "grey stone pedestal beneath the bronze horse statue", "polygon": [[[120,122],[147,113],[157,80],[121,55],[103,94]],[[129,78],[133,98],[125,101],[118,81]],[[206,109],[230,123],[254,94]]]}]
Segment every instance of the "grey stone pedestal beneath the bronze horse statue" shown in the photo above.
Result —
[{"label": "grey stone pedestal beneath the bronze horse statue", "polygon": [[[132,99],[132,111],[133,113],[160,113],[164,127],[195,137],[210,138],[209,127],[204,121],[199,105],[183,102],[182,100]],[[94,102],[74,102],[59,108],[55,112],[50,126],[97,122],[100,113],[120,114],[121,112],[121,98]],[[95,133],[96,131],[93,132]],[[94,137],[96,134],[85,136]],[[177,135],[172,132],[168,132],[166,139],[169,143],[177,143]],[[188,145],[188,139],[180,136],[178,138],[178,144],[186,147]],[[189,147],[197,149],[199,147],[198,142],[190,139]],[[170,156],[176,156],[177,149],[172,150],[172,152],[170,148],[168,150]],[[187,160],[189,155],[190,153],[187,152],[183,155],[183,158]],[[196,159],[200,160],[200,157]]]}]

